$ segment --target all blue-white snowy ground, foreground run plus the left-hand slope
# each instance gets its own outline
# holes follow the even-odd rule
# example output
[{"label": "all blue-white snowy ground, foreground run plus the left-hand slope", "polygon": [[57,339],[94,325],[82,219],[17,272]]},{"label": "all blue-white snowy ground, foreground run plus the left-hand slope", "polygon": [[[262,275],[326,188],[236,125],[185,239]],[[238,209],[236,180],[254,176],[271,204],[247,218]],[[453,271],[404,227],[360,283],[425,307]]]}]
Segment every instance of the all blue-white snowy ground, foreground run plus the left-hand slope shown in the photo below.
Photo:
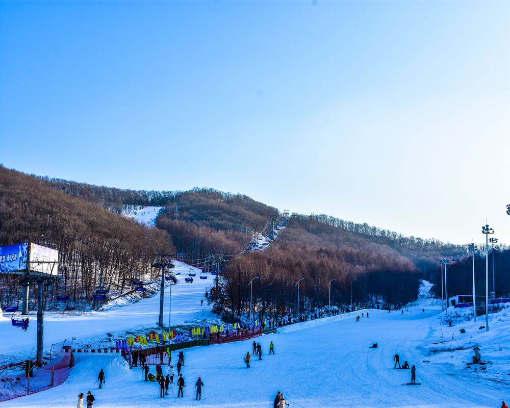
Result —
[{"label": "all blue-white snowy ground, foreground run plus the left-hand slope", "polygon": [[[193,286],[195,282],[196,286]],[[199,299],[211,281],[208,279],[206,283],[196,279],[195,282],[189,287],[180,283],[172,289],[174,299],[177,288],[182,288],[182,309],[181,312],[175,310],[175,319],[189,320],[208,313],[200,308]],[[510,399],[510,376],[507,375],[510,369],[510,322],[506,310],[491,316],[489,332],[479,329],[484,325],[482,318],[479,317],[476,323],[466,320],[469,310],[455,310],[458,316],[454,321],[462,323],[448,327],[441,324],[444,313],[441,314],[440,302],[429,297],[429,288],[430,284],[424,283],[420,299],[404,309],[403,314],[370,310],[367,318],[364,310],[286,326],[277,334],[259,337],[256,340],[264,352],[268,352],[269,343],[273,341],[276,354],[265,354],[262,361],[253,358],[249,369],[244,365],[243,357],[251,350],[250,340],[185,350],[183,374],[188,382],[185,398],[176,398],[177,390],[174,389],[174,395],[161,400],[158,387],[142,381],[139,370],[130,371],[116,358],[95,356],[78,361],[66,384],[4,402],[2,406],[69,407],[74,406],[80,392],[86,394],[88,390],[96,397],[96,407],[155,404],[268,407],[276,391],[283,392],[291,406],[307,408],[500,406],[503,399]],[[152,324],[157,319],[154,302],[157,303],[158,298],[156,295],[156,300],[146,299],[107,312],[49,320],[46,330],[48,336],[59,331],[60,336],[55,336],[63,340],[62,337],[76,336],[77,333],[85,338],[104,334],[105,330],[113,330],[110,328],[112,324],[117,329],[144,322]],[[175,303],[178,302],[172,301],[172,320]],[[188,308],[189,314],[186,313]],[[450,313],[453,312],[451,308]],[[355,316],[362,313],[365,317],[356,322]],[[19,331],[7,333],[7,328],[2,322],[0,330],[5,334],[4,339],[12,339],[13,335],[15,339],[22,339],[23,334]],[[466,334],[460,334],[461,328]],[[452,336],[454,340],[451,340]],[[451,341],[432,344],[442,338]],[[378,348],[369,348],[375,342]],[[23,349],[32,344],[35,343],[21,341]],[[468,368],[465,362],[471,362],[475,345],[480,347],[482,358],[493,364],[478,365],[477,371]],[[2,345],[2,352],[16,350],[10,344],[7,349],[4,347]],[[416,365],[417,382],[422,385],[402,385],[409,382],[411,373],[410,370],[393,369],[395,353],[400,355],[402,363],[407,360],[410,365]],[[93,382],[101,368],[105,369],[107,382],[106,388],[98,390]],[[205,393],[202,401],[194,401],[191,394],[199,375],[205,384]]]}]

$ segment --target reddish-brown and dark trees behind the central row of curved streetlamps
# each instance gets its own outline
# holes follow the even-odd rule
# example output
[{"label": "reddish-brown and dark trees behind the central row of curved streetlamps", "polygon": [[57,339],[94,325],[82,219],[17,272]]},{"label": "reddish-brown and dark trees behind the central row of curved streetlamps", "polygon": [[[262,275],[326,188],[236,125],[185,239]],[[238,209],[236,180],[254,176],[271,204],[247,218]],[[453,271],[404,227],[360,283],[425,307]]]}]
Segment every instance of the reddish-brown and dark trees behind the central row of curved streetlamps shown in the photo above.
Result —
[{"label": "reddish-brown and dark trees behind the central row of curved streetlamps", "polygon": [[421,272],[403,257],[355,249],[291,247],[283,243],[262,252],[237,256],[224,272],[219,310],[232,320],[245,319],[250,306],[250,280],[253,281],[251,316],[257,319],[296,317],[299,279],[299,313],[315,313],[328,305],[340,309],[378,303],[395,309],[418,296]]}]

